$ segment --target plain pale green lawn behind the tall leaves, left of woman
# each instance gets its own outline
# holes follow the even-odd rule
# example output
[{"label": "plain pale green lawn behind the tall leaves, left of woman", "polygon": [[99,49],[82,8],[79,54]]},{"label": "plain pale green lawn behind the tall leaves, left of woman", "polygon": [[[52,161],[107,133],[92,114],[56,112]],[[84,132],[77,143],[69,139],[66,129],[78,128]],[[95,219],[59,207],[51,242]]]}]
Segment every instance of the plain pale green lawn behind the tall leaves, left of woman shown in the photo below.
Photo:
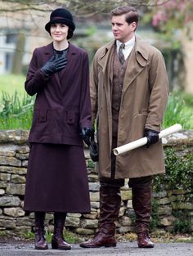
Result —
[{"label": "plain pale green lawn behind the tall leaves, left of woman", "polygon": [[3,74],[0,75],[0,98],[2,92],[9,93],[10,96],[18,92],[21,97],[25,92],[25,76],[15,74]]}]

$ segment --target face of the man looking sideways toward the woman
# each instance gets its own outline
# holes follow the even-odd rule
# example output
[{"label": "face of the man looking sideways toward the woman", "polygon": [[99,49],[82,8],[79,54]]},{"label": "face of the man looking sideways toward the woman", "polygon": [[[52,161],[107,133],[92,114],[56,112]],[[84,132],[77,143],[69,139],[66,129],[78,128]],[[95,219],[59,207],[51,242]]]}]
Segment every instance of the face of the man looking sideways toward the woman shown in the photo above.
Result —
[{"label": "face of the man looking sideways toward the woman", "polygon": [[119,40],[122,43],[127,42],[133,37],[137,27],[136,22],[132,22],[130,25],[128,25],[128,22],[125,20],[125,16],[125,14],[120,16],[112,16],[111,19],[114,39]]}]

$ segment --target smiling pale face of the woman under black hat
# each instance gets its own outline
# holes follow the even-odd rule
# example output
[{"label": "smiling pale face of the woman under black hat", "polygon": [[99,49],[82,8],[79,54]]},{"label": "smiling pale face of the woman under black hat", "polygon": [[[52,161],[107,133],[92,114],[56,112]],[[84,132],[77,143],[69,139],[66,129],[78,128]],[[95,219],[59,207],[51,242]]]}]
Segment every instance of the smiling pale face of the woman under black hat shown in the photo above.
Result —
[{"label": "smiling pale face of the woman under black hat", "polygon": [[60,43],[65,41],[68,36],[69,27],[65,24],[54,23],[50,27],[50,34],[53,41]]}]

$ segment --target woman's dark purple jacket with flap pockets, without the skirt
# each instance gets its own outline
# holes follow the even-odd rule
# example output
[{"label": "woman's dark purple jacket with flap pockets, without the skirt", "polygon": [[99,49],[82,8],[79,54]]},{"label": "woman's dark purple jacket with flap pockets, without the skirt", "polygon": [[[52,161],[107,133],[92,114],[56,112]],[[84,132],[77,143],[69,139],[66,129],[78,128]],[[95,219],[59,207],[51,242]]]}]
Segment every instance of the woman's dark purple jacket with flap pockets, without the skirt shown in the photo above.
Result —
[{"label": "woman's dark purple jacket with flap pockets, without the skirt", "polygon": [[47,77],[52,55],[52,43],[38,47],[29,64],[25,90],[37,94],[29,142],[83,145],[81,128],[92,127],[88,53],[70,43],[65,69]]}]

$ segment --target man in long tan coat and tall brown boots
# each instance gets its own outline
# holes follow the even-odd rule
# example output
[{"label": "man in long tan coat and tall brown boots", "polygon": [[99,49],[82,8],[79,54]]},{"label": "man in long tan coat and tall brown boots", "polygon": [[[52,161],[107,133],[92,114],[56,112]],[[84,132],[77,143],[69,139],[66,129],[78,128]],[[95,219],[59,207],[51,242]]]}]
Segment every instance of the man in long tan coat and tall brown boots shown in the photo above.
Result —
[{"label": "man in long tan coat and tall brown boots", "polygon": [[[137,38],[138,15],[133,7],[111,11],[114,41],[101,47],[92,64],[92,123],[99,146],[99,231],[84,248],[115,246],[120,187],[129,178],[136,214],[137,243],[152,248],[149,236],[152,176],[164,173],[160,126],[168,99],[168,78],[162,54]],[[114,156],[112,149],[141,137],[147,145]]]}]

